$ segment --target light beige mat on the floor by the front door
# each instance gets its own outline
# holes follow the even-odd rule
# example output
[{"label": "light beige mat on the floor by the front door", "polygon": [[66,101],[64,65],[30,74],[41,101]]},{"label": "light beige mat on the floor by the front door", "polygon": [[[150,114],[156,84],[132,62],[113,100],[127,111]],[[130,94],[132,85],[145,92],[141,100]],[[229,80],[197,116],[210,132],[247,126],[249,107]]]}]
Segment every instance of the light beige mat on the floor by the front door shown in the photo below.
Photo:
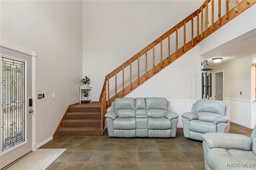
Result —
[{"label": "light beige mat on the floor by the front door", "polygon": [[66,149],[37,149],[7,169],[8,170],[45,170],[65,150]]}]

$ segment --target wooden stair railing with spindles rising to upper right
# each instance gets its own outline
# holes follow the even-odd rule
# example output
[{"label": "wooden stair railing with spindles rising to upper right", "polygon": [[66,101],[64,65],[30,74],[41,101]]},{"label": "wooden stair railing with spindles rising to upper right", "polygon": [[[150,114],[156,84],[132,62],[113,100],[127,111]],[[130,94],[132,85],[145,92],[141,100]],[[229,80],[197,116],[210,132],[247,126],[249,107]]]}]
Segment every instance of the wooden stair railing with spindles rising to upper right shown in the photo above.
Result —
[{"label": "wooden stair railing with spindles rising to upper right", "polygon": [[[212,19],[211,26],[209,27],[209,2],[211,2],[211,11],[210,16]],[[218,2],[218,20],[214,22],[214,4]],[[236,0],[235,7],[229,10],[229,1],[226,0],[226,9],[224,16],[221,16],[221,0],[206,0],[202,6],[190,14],[188,17],[186,17],[184,20],[182,20],[180,23],[178,23],[176,26],[168,30],[166,33],[164,33],[162,36],[157,38],[154,42],[150,43],[148,46],[146,46],[144,49],[136,53],[133,57],[128,59],[126,62],[124,62],[122,65],[114,69],[111,73],[106,75],[104,80],[104,85],[102,87],[102,91],[100,93],[100,105],[101,105],[101,135],[103,135],[103,127],[105,124],[105,117],[104,115],[107,112],[107,109],[111,106],[112,101],[114,99],[119,97],[124,97],[128,95],[131,91],[142,85],[145,81],[150,79],[152,76],[154,76],[156,73],[167,67],[170,63],[178,59],[180,56],[182,56],[184,53],[192,49],[194,46],[196,46],[199,42],[204,40],[206,37],[211,35],[213,32],[218,30],[220,27],[225,25],[227,22],[244,12],[246,9],[248,9],[250,6],[254,5],[256,3],[256,0],[242,0],[238,3],[238,0]],[[206,15],[204,16],[204,8]],[[196,17],[196,33],[197,35],[194,36],[194,18]],[[201,18],[201,20],[200,20]],[[204,20],[205,19],[205,20]],[[186,43],[186,31],[188,28],[186,28],[186,24],[191,21],[191,40]],[[205,24],[205,28],[204,28]],[[178,47],[178,30],[183,27],[184,31],[184,45],[182,47]],[[200,34],[199,34],[200,32]],[[170,53],[170,36],[172,34],[176,34],[176,51],[174,51],[172,54]],[[163,59],[163,40],[168,38],[168,56]],[[156,45],[159,45],[160,43],[160,63],[155,64],[155,48]],[[148,69],[148,51],[152,49],[152,68]],[[145,54],[145,73],[140,76],[140,57]],[[138,63],[138,70],[136,72],[138,73],[138,78],[134,81],[132,81],[132,65],[133,62],[137,61]],[[124,69],[130,65],[130,75],[128,77],[125,77],[124,75]],[[122,83],[119,85],[117,83],[117,74],[122,71]],[[115,85],[113,87],[113,95],[110,95],[110,79],[115,79]],[[125,80],[126,82],[129,81],[130,83],[125,87]],[[112,84],[111,84],[112,85]],[[117,87],[122,87],[122,90],[118,92]],[[111,89],[112,90],[112,89]],[[112,97],[111,97],[112,96]]]}]

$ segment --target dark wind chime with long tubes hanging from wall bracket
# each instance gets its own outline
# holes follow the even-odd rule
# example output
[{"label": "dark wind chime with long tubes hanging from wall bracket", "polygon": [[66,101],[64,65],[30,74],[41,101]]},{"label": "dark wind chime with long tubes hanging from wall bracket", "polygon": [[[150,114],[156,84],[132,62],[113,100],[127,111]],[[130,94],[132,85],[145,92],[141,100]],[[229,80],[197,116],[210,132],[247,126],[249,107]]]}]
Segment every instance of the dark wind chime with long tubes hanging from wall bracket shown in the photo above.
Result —
[{"label": "dark wind chime with long tubes hanging from wall bracket", "polygon": [[[204,65],[204,63],[206,63]],[[212,97],[212,68],[208,65],[208,61],[202,61],[201,66],[204,65],[204,68],[201,69],[202,72],[202,99]],[[204,84],[205,82],[205,84]],[[205,89],[205,97],[204,97]]]}]

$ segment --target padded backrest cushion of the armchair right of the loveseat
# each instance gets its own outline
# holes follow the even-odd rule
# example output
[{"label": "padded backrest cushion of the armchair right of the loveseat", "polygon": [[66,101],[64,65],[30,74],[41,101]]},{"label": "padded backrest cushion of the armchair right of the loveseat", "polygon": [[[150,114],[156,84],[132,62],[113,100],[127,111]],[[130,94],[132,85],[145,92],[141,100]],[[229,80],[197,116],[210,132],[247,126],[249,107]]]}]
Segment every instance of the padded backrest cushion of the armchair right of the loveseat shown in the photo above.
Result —
[{"label": "padded backrest cushion of the armchair right of the loveseat", "polygon": [[225,115],[226,105],[224,101],[218,100],[198,100],[195,104],[195,113],[216,113],[219,115]]}]

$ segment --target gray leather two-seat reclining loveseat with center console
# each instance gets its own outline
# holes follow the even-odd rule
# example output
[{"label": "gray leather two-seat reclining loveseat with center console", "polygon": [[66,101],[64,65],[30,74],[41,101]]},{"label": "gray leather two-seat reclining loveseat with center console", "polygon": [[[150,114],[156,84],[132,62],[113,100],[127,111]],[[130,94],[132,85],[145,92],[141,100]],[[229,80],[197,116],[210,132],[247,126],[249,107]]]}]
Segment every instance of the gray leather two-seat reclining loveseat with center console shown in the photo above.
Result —
[{"label": "gray leather two-seat reclining loveseat with center console", "polygon": [[106,113],[110,137],[175,137],[178,114],[165,98],[117,98]]}]

